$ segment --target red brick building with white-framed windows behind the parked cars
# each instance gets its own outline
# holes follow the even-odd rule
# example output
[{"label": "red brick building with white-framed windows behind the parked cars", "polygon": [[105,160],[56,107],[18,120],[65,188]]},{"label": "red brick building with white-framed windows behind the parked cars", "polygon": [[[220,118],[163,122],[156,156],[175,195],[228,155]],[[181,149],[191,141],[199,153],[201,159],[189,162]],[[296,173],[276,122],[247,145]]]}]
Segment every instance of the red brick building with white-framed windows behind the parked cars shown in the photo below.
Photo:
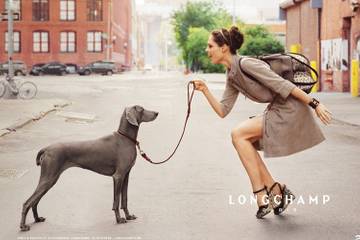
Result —
[{"label": "red brick building with white-framed windows behind the parked cars", "polygon": [[[14,60],[131,65],[131,0],[13,0]],[[7,0],[0,0],[6,12]],[[7,60],[7,21],[0,22],[0,62]]]}]

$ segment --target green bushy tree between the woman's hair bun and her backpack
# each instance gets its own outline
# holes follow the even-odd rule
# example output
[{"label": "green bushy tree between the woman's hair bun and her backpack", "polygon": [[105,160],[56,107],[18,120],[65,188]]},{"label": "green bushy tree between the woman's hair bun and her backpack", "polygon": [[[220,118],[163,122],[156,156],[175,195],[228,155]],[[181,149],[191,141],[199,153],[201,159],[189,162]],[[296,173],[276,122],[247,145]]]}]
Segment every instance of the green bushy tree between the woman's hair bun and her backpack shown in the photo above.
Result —
[{"label": "green bushy tree between the woman's hair bun and her backpack", "polygon": [[245,42],[240,49],[242,55],[263,55],[284,52],[284,46],[262,25],[245,29]]}]

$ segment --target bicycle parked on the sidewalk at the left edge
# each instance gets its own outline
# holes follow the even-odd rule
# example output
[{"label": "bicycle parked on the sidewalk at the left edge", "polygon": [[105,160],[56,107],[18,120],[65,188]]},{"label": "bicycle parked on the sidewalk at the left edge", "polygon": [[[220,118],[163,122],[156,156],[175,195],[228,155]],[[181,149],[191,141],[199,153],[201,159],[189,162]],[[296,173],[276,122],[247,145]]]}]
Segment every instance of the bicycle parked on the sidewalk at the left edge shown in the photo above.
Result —
[{"label": "bicycle parked on the sidewalk at the left edge", "polygon": [[32,99],[36,96],[37,87],[35,83],[30,81],[19,83],[19,80],[14,79],[12,84],[9,82],[9,80],[9,76],[6,76],[5,79],[0,80],[0,98],[5,95],[7,89],[9,89],[12,94],[20,97],[21,99]]}]

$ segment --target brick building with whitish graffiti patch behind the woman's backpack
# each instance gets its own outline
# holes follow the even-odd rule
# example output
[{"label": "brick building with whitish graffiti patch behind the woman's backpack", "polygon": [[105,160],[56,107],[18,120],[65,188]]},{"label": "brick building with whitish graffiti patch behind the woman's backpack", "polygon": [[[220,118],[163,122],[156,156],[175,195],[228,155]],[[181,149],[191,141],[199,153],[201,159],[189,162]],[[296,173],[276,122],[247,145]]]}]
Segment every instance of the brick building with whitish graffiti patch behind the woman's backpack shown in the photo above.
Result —
[{"label": "brick building with whitish graffiti patch behind the woman's backpack", "polygon": [[360,57],[360,1],[286,0],[280,18],[286,19],[286,45],[321,70],[322,91],[349,92],[351,60]]}]

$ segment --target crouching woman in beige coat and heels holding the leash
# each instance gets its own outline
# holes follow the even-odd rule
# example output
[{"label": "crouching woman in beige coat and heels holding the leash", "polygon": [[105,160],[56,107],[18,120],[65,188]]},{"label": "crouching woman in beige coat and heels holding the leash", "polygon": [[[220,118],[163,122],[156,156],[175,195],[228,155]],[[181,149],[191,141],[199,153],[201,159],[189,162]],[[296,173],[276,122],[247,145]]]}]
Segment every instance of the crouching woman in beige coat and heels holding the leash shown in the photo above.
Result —
[{"label": "crouching woman in beige coat and heels holding the leash", "polygon": [[[239,92],[253,101],[270,103],[262,116],[240,123],[231,132],[232,143],[257,198],[256,217],[262,218],[271,210],[280,214],[295,196],[286,185],[275,182],[257,150],[263,150],[265,157],[280,157],[315,146],[325,138],[310,107],[325,125],[330,123],[331,113],[261,60],[236,55],[243,41],[244,36],[237,27],[231,27],[229,31],[216,30],[209,36],[208,57],[212,63],[222,64],[227,69],[226,87],[220,102],[203,81],[194,82],[195,89],[205,95],[221,118],[231,111]],[[242,70],[258,81],[248,78],[240,70],[240,59]]]}]

